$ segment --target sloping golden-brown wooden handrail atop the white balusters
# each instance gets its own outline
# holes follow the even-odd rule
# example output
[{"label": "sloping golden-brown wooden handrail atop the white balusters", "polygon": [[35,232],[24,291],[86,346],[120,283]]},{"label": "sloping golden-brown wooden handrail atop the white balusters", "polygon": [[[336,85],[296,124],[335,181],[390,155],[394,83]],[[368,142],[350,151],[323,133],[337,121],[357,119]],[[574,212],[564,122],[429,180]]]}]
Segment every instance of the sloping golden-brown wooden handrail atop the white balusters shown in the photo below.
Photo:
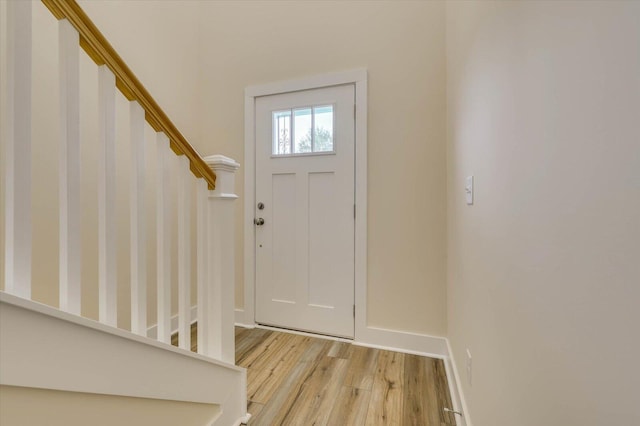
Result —
[{"label": "sloping golden-brown wooden handrail atop the white balusters", "polygon": [[215,188],[216,175],[182,136],[169,117],[151,97],[127,64],[98,30],[75,0],[42,0],[56,19],[66,19],[80,34],[80,46],[97,65],[106,65],[116,77],[116,86],[129,101],[137,101],[145,111],[145,119],[156,132],[164,132],[171,149],[189,158],[191,172]]}]

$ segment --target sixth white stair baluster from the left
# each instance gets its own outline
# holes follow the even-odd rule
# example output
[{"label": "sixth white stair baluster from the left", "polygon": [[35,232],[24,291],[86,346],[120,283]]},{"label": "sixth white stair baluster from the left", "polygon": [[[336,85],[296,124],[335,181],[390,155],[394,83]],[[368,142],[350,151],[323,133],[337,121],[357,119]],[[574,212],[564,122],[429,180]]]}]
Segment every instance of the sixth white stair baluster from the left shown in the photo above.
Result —
[{"label": "sixth white stair baluster from the left", "polygon": [[191,182],[189,159],[178,167],[178,346],[191,350]]}]

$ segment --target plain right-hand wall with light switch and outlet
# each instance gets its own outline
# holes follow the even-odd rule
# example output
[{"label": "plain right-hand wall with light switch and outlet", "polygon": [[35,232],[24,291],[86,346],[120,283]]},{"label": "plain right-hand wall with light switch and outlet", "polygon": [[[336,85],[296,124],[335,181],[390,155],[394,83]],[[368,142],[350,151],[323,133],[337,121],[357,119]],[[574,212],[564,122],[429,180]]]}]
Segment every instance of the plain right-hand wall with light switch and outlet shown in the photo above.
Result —
[{"label": "plain right-hand wall with light switch and outlet", "polygon": [[640,424],[639,23],[638,2],[447,4],[448,333],[475,425]]}]

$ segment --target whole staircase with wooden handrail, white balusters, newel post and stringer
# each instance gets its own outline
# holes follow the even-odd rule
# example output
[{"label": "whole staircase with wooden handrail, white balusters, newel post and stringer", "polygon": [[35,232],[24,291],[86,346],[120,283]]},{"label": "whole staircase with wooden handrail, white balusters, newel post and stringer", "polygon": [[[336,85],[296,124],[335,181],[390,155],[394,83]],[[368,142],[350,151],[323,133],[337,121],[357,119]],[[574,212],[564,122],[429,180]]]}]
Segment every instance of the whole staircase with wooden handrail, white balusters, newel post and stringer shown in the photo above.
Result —
[{"label": "whole staircase with wooden handrail, white balusters, newel post and stringer", "polygon": [[[34,68],[36,8],[57,27],[48,156],[34,137],[46,103],[34,85],[48,71]],[[74,0],[1,0],[0,33],[0,424],[246,422],[233,324],[239,165],[203,159]],[[82,51],[96,67],[88,100]],[[88,144],[96,167],[83,164]]]}]

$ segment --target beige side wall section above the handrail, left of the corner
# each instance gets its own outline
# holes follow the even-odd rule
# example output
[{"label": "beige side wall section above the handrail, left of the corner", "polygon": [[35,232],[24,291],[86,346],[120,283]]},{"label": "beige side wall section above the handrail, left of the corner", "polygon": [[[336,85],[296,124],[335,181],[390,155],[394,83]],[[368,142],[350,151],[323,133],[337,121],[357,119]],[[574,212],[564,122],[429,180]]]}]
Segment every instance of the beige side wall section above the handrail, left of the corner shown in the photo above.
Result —
[{"label": "beige side wall section above the handrail, left of the corner", "polygon": [[198,1],[79,0],[178,129],[199,140]]}]

